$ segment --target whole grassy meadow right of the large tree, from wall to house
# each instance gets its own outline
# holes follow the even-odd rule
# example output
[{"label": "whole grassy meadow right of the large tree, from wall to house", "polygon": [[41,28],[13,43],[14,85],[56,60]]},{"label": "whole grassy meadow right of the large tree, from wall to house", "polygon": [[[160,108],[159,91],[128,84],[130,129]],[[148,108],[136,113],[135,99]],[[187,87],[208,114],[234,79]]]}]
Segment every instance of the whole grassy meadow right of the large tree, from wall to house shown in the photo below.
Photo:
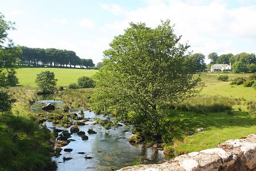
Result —
[{"label": "whole grassy meadow right of the large tree, from wall to house", "polygon": [[[256,116],[247,113],[247,103],[256,101],[256,89],[243,87],[243,85],[230,85],[234,78],[247,77],[250,74],[228,74],[229,82],[218,81],[217,75],[201,74],[200,77],[205,86],[200,95],[202,97],[210,95],[220,98],[229,97],[229,100],[221,103],[230,103],[232,105],[231,111],[205,113],[170,111],[170,115],[181,120],[182,124],[189,123],[189,125],[193,125],[193,129],[204,128],[204,131],[191,136],[184,136],[183,140],[174,140],[173,147],[177,154],[215,148],[226,140],[238,139],[256,133]],[[204,102],[205,100],[201,98],[201,100],[190,101],[190,105],[196,104],[202,107]]]}]

